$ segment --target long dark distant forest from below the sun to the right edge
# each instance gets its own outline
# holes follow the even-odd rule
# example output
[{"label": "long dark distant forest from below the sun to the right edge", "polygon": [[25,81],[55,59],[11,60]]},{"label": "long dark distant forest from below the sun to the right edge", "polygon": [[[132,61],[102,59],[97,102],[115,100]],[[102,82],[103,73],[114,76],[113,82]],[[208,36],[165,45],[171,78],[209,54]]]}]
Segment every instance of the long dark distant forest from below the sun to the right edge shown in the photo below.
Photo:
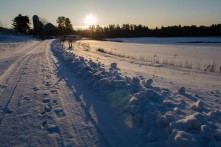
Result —
[{"label": "long dark distant forest from below the sun to the right edge", "polygon": [[106,27],[90,26],[88,29],[77,30],[82,37],[93,39],[125,38],[125,37],[205,37],[221,36],[221,24],[211,26],[168,26],[149,29],[144,25],[109,25]]}]

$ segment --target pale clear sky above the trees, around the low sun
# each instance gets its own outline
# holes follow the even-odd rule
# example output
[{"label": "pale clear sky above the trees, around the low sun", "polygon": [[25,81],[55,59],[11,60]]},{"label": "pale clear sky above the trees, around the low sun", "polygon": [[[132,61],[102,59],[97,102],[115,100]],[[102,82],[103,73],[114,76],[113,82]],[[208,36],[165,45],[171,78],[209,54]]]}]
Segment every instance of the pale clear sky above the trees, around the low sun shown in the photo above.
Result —
[{"label": "pale clear sky above the trees, around the low sun", "polygon": [[93,15],[95,25],[171,25],[221,23],[221,0],[0,0],[0,25],[11,27],[18,14],[33,15],[57,25],[58,16],[70,18],[75,28]]}]

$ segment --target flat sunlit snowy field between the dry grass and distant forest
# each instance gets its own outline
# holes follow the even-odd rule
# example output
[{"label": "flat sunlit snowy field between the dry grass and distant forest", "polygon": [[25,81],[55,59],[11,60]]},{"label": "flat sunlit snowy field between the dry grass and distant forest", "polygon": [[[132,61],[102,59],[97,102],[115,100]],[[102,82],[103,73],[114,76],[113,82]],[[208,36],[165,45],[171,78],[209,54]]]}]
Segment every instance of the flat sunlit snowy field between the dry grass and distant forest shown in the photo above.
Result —
[{"label": "flat sunlit snowy field between the dry grass and distant forest", "polygon": [[[221,38],[129,38],[115,39],[127,41],[101,42],[81,41],[90,47],[104,49],[111,54],[117,54],[128,58],[136,58],[144,61],[159,62],[161,64],[174,64],[178,67],[193,69],[206,69],[209,65],[215,65],[217,71],[221,66]],[[190,41],[220,42],[220,43],[185,43]],[[131,41],[128,43],[128,41]]]}]

